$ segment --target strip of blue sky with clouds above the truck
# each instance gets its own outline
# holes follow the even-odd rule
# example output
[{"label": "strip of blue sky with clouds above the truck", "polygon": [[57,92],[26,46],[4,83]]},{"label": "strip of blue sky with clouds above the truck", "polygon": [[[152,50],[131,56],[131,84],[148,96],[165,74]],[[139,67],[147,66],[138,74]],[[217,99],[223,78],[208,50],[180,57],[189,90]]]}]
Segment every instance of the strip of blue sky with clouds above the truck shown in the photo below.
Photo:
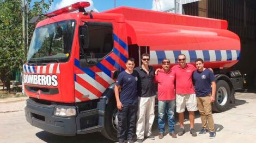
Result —
[{"label": "strip of blue sky with clouds above the truck", "polygon": [[[86,10],[101,12],[114,8],[114,0],[54,0],[48,12],[82,1],[90,2],[91,4]],[[133,8],[164,11],[174,8],[174,0],[115,0],[115,6],[130,6]]]}]

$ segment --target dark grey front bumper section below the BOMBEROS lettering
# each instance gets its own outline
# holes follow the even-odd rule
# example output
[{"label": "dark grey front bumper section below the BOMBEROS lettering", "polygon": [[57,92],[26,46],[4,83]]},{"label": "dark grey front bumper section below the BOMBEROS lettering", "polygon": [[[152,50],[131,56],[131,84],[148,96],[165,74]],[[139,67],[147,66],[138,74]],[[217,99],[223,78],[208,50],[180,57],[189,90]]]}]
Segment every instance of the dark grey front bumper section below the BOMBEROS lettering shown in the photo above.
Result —
[{"label": "dark grey front bumper section below the BOMBEROS lettering", "polygon": [[42,105],[27,99],[26,120],[35,127],[59,135],[76,135],[76,117],[63,118],[53,116],[57,105]]}]

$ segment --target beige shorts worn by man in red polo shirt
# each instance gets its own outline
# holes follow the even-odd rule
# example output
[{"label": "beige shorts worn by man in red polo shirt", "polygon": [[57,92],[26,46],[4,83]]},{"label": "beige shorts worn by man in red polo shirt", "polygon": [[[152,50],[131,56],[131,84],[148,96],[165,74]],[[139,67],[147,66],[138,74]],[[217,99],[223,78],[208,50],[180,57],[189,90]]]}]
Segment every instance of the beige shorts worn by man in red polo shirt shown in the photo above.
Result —
[{"label": "beige shorts worn by man in red polo shirt", "polygon": [[197,111],[196,94],[176,94],[176,112]]}]

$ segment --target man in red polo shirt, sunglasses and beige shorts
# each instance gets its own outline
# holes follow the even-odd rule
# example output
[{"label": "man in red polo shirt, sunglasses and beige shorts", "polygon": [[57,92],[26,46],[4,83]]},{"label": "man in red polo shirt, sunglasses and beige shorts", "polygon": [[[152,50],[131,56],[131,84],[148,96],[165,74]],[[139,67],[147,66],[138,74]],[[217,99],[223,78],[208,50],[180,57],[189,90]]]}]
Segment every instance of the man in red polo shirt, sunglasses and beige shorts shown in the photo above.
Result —
[{"label": "man in red polo shirt, sunglasses and beige shorts", "polygon": [[197,136],[194,129],[194,111],[197,111],[197,99],[194,93],[192,75],[196,67],[186,63],[186,56],[181,54],[178,56],[177,65],[172,67],[176,73],[176,112],[179,113],[180,129],[178,135],[185,133],[184,129],[184,111],[187,107],[190,118],[190,133],[193,137]]}]

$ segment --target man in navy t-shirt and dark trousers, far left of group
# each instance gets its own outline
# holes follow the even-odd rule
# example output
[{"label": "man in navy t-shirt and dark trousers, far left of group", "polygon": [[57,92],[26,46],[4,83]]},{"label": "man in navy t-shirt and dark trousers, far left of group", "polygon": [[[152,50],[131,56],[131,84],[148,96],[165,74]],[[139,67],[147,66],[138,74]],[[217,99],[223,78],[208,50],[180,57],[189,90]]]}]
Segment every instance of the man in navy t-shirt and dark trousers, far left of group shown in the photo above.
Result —
[{"label": "man in navy t-shirt and dark trousers, far left of group", "polygon": [[[137,72],[133,72],[135,60],[130,58],[126,62],[126,70],[121,72],[115,83],[115,99],[118,108],[119,142],[133,142],[137,120]],[[119,94],[120,93],[120,94]]]}]

